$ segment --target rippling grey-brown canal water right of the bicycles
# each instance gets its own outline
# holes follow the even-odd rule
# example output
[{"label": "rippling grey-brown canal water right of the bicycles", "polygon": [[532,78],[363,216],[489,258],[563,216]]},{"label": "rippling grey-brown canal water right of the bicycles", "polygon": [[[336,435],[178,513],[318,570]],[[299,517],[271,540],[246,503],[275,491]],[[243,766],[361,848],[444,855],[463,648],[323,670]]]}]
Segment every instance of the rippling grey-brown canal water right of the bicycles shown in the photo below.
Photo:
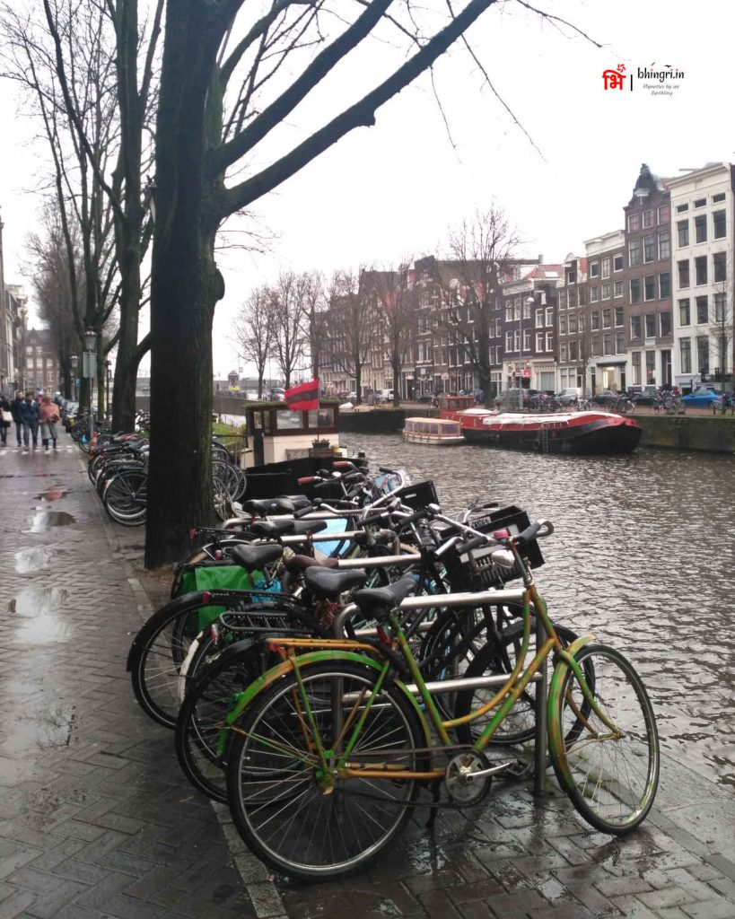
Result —
[{"label": "rippling grey-brown canal water right of the bicycles", "polygon": [[547,517],[537,582],[558,621],[628,654],[678,762],[735,787],[735,459],[638,450],[559,457],[400,435],[340,436],[372,466],[432,479],[443,510],[479,501]]}]

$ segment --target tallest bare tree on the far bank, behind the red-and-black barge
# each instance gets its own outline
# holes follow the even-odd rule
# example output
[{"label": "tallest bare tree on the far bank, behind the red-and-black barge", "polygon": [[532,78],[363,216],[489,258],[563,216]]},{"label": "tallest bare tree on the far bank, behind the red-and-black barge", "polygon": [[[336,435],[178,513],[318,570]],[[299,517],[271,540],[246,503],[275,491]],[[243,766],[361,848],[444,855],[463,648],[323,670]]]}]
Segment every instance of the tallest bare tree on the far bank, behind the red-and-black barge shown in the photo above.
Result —
[{"label": "tallest bare tree on the far bank, behind the red-and-black barge", "polygon": [[447,258],[434,263],[443,301],[440,326],[477,373],[486,405],[492,399],[490,339],[496,301],[503,282],[512,278],[519,244],[503,210],[493,206],[450,231]]}]

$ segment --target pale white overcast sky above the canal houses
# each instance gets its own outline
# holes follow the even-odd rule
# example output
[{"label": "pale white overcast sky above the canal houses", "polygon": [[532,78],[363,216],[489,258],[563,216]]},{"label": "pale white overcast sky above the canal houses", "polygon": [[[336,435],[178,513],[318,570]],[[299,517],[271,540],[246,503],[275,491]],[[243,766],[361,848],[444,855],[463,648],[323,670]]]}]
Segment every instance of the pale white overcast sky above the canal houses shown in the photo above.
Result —
[{"label": "pale white overcast sky above the canal houses", "polygon": [[[709,161],[735,161],[727,3],[539,0],[539,6],[604,48],[512,2],[492,7],[469,32],[495,89],[538,150],[458,44],[435,69],[448,130],[424,76],[379,109],[375,127],[353,131],[257,202],[258,225],[274,234],[266,255],[218,255],[227,284],[214,327],[218,374],[239,363],[229,340],[233,315],[248,291],[275,279],[280,268],[328,275],[337,267],[387,266],[435,252],[447,228],[492,202],[515,222],[524,254],[563,261],[582,254],[584,240],[622,227],[641,163],[675,176]],[[628,86],[605,92],[602,72],[619,63],[628,74],[669,64],[684,78],[671,96],[652,95],[638,78],[632,92]],[[331,98],[345,104],[358,83],[348,72],[338,89],[324,90],[334,96],[317,100],[322,119],[334,113],[327,109]],[[24,244],[39,203],[32,189],[41,158],[6,82],[0,82],[0,119],[6,281],[28,285]],[[301,136],[302,127],[297,111],[284,128],[286,140],[288,130]]]}]

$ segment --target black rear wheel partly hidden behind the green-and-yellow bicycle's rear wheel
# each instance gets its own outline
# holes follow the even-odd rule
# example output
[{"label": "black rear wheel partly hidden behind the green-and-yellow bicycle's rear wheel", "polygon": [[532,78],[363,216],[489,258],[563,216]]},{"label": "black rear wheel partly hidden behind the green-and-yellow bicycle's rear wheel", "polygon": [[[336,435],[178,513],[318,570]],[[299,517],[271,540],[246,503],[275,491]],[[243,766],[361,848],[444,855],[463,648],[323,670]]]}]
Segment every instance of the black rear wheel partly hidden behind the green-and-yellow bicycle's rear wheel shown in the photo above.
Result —
[{"label": "black rear wheel partly hidden behind the green-and-yellow bicycle's rear wheel", "polygon": [[266,650],[256,641],[238,641],[210,660],[187,689],[175,726],[179,765],[195,788],[212,800],[227,802],[227,756],[220,759],[224,716],[232,696],[266,669]]}]

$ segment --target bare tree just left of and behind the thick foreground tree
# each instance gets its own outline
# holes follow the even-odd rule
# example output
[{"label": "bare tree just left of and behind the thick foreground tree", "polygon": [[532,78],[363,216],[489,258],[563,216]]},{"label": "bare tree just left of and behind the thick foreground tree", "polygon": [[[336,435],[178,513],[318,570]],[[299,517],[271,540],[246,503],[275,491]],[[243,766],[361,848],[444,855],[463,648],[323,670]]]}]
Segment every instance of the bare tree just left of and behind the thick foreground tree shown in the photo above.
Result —
[{"label": "bare tree just left of and behind the thick foreground tree", "polygon": [[[143,229],[141,169],[163,5],[156,0],[140,29],[138,0],[43,0],[0,10],[5,75],[28,89],[49,143],[71,284],[76,289],[83,279],[85,291],[74,327],[80,340],[85,329],[96,331],[100,384],[106,354],[117,346],[113,422],[122,428],[133,424],[135,376],[147,349],[137,340],[141,259],[150,238]],[[81,272],[73,264],[73,223]],[[119,323],[112,332],[106,329],[111,317]],[[101,408],[102,385],[98,396]]]}]

